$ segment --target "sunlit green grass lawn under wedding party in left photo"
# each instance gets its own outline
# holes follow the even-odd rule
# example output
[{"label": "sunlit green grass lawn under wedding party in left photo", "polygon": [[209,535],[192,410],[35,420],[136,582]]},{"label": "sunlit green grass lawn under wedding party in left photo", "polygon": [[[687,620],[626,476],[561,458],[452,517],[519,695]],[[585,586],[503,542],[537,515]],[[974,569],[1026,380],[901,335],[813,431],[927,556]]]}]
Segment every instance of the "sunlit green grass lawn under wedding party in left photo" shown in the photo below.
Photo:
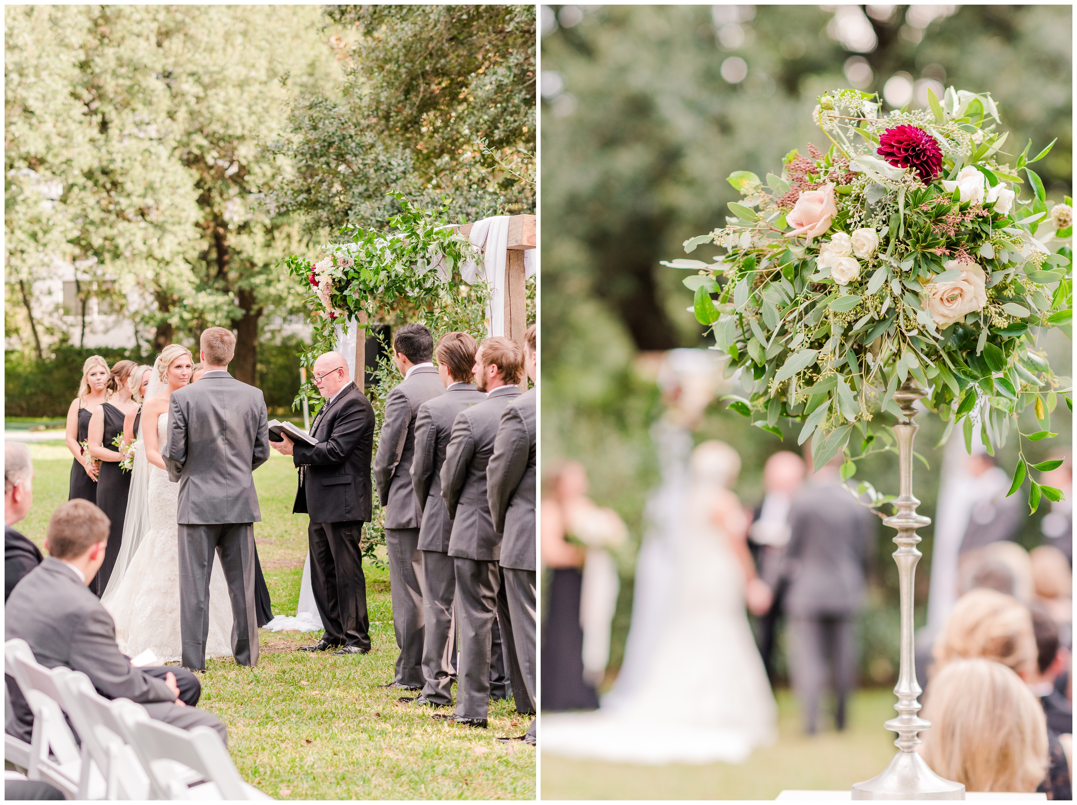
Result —
[{"label": "sunlit green grass lawn under wedding party in left photo", "polygon": [[[62,442],[30,444],[33,510],[19,529],[41,545],[48,516],[67,499],[71,455]],[[275,613],[295,615],[307,517],[292,514],[295,470],[276,452],[254,472],[263,522],[254,535]],[[209,660],[199,707],[227,725],[240,774],[278,799],[527,800],[535,795],[534,748],[500,744],[527,719],[507,702],[491,705],[490,729],[446,726],[414,712],[398,693],[375,686],[393,678],[396,644],[389,570],[366,567],[369,654],[310,655],[295,647],[319,633],[262,631],[255,668]]]}]

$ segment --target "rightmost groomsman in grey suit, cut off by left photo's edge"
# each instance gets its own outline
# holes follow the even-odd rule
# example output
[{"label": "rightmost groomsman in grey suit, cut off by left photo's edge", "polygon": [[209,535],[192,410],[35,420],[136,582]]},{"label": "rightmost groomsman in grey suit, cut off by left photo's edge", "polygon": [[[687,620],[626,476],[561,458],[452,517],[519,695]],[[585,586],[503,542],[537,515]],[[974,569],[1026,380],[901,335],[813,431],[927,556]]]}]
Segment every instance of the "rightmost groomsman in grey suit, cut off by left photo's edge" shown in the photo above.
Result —
[{"label": "rightmost groomsman in grey suit, cut off by left photo's edge", "polygon": [[[535,326],[524,334],[524,366],[535,381]],[[512,642],[527,686],[530,709],[535,709],[535,463],[537,389],[532,387],[505,406],[486,468],[487,499],[495,531],[503,532],[501,573],[505,595],[498,596],[498,617],[512,624]],[[504,602],[504,604],[502,604]],[[506,630],[502,630],[504,634]],[[506,641],[507,642],[507,641]],[[517,697],[518,698],[518,697]],[[499,740],[535,743],[535,722],[526,735]]]}]

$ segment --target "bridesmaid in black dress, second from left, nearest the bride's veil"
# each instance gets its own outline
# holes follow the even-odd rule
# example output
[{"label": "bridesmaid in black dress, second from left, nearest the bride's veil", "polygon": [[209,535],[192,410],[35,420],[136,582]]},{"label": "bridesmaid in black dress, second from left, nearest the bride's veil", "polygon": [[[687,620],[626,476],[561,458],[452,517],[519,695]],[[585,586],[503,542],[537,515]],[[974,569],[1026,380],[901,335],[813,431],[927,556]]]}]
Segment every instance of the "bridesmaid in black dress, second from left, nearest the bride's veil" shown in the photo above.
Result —
[{"label": "bridesmaid in black dress, second from left, nearest the bride's veil", "polygon": [[109,542],[104,548],[104,562],[97,575],[90,580],[89,589],[98,598],[104,592],[112,568],[120,555],[120,546],[124,536],[124,518],[127,514],[127,494],[130,491],[131,476],[120,468],[123,453],[116,450],[113,441],[124,432],[124,419],[138,409],[138,402],[131,399],[131,390],[127,384],[131,371],[138,366],[134,361],[117,361],[112,367],[109,378],[111,395],[89,420],[89,454],[101,462],[97,477],[97,506],[108,516]]}]

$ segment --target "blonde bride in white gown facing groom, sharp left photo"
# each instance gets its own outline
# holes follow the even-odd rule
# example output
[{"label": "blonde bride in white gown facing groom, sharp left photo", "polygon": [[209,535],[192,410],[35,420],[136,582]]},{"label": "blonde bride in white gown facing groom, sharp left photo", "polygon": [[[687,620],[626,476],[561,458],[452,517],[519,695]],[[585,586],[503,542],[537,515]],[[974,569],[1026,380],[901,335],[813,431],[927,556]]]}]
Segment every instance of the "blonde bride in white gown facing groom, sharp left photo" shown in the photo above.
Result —
[{"label": "blonde bride in white gown facing groom, sharp left photo", "polygon": [[[163,368],[164,367],[164,368]],[[101,604],[116,623],[120,650],[145,650],[158,663],[178,661],[180,637],[180,555],[177,508],[180,484],[168,479],[160,446],[167,439],[169,397],[187,384],[191,352],[169,344],[154,365],[139,428],[123,545]],[[210,579],[207,656],[232,656],[232,603],[214,557]]]}]

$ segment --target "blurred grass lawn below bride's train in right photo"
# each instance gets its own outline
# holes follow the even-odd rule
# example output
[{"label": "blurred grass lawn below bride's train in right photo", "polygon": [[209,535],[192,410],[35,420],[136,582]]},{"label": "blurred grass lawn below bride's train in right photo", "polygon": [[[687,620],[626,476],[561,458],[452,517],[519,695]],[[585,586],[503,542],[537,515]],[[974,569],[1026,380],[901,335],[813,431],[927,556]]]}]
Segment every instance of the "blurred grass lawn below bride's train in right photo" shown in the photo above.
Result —
[{"label": "blurred grass lawn below bride's train in right photo", "polygon": [[[686,693],[686,695],[688,695]],[[848,729],[805,735],[796,698],[778,692],[779,738],[743,764],[637,766],[542,755],[543,800],[773,800],[784,789],[848,791],[882,772],[897,751],[882,722],[889,690],[857,692]],[[825,723],[825,720],[824,720]]]}]

